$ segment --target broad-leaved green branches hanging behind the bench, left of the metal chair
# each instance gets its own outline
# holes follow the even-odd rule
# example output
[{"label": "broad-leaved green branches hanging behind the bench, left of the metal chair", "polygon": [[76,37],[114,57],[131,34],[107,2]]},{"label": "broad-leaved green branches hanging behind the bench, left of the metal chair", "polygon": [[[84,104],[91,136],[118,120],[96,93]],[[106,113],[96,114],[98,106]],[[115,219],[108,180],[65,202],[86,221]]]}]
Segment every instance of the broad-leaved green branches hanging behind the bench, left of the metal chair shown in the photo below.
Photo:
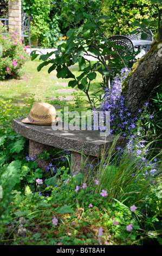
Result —
[{"label": "broad-leaved green branches hanging behind the bench, left of the metal chair", "polygon": [[[40,71],[44,65],[51,65],[48,69],[50,73],[54,69],[57,71],[57,78],[72,78],[68,86],[77,86],[88,97],[90,107],[93,108],[92,100],[88,91],[90,83],[95,80],[96,72],[102,75],[104,87],[108,87],[108,76],[110,66],[114,74],[119,72],[124,66],[131,66],[135,52],[127,52],[125,48],[113,47],[113,60],[107,62],[107,56],[112,54],[112,44],[105,36],[105,29],[109,22],[108,17],[96,15],[98,3],[89,0],[76,2],[64,1],[66,6],[62,8],[61,15],[66,18],[66,26],[71,25],[73,29],[67,32],[67,40],[57,47],[57,51],[40,56],[44,63],[41,63],[37,70]],[[55,59],[50,59],[50,55],[55,53]],[[120,53],[120,54],[119,54]],[[96,56],[96,62],[92,63],[88,57]],[[138,54],[138,53],[137,53]],[[36,51],[31,52],[31,59],[38,55]],[[49,58],[49,59],[48,59]],[[75,77],[69,66],[79,64],[80,76]]]}]

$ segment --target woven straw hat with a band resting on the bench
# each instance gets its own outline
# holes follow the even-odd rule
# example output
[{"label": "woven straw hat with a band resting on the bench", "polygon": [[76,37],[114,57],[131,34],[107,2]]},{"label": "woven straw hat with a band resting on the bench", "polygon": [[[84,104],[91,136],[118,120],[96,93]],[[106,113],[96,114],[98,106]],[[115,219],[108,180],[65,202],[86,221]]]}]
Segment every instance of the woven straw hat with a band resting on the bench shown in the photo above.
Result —
[{"label": "woven straw hat with a band resting on the bench", "polygon": [[27,118],[22,123],[36,125],[57,124],[61,118],[56,118],[56,109],[46,102],[35,102]]}]

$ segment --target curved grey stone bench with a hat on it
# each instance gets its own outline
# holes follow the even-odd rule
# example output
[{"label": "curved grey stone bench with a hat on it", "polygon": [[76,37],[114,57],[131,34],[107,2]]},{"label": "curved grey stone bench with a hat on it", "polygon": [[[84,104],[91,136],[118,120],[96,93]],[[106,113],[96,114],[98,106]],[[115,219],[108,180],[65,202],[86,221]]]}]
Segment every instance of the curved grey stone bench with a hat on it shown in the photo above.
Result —
[{"label": "curved grey stone bench with a hat on it", "polygon": [[[62,121],[59,123],[62,130],[54,131],[51,126],[24,124],[21,120],[12,120],[12,130],[29,139],[29,157],[39,155],[46,150],[49,151],[51,147],[69,150],[73,155],[73,172],[76,173],[79,173],[81,169],[81,152],[86,155],[86,157],[82,156],[83,162],[87,157],[89,163],[95,162],[101,156],[103,148],[109,149],[114,141],[113,135],[102,137],[99,131],[66,130],[67,128],[64,127],[67,127],[67,123]],[[116,145],[121,145],[123,142],[124,139],[119,137]],[[37,163],[41,169],[46,170],[47,162],[38,160]]]}]

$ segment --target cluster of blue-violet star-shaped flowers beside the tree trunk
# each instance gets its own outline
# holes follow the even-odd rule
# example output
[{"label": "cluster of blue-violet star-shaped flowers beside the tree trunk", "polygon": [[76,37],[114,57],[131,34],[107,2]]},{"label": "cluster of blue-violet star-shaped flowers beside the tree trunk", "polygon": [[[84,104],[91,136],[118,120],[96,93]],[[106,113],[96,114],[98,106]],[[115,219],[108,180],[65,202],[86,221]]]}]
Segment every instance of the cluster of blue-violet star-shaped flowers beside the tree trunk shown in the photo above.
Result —
[{"label": "cluster of blue-violet star-shaped flowers beside the tree trunk", "polygon": [[[144,104],[144,109],[138,110],[138,115],[131,117],[131,113],[128,112],[128,108],[125,103],[125,97],[121,94],[122,83],[128,76],[130,69],[124,68],[121,70],[120,75],[116,75],[111,84],[111,89],[106,88],[103,101],[100,103],[98,111],[106,113],[110,112],[110,133],[115,135],[122,132],[122,136],[126,138],[126,149],[123,150],[121,147],[117,147],[118,154],[132,153],[132,157],[136,157],[139,160],[137,167],[142,164],[148,166],[149,171],[144,175],[147,176],[157,175],[157,159],[153,162],[147,160],[147,152],[149,148],[146,146],[146,141],[142,139],[142,127],[139,127],[137,121],[142,119],[142,111],[148,107],[148,102]],[[153,115],[150,115],[153,118]],[[100,130],[100,127],[99,127]],[[102,130],[103,131],[103,130]],[[140,142],[138,142],[140,138]]]}]

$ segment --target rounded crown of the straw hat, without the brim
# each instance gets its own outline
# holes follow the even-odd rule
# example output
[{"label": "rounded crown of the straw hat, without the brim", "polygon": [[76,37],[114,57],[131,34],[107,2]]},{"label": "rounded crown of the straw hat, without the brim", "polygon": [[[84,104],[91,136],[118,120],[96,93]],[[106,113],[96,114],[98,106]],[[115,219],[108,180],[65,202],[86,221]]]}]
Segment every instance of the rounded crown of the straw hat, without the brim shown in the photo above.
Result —
[{"label": "rounded crown of the straw hat, without the brim", "polygon": [[56,109],[47,102],[35,102],[29,116],[36,121],[53,122],[56,120]]}]

